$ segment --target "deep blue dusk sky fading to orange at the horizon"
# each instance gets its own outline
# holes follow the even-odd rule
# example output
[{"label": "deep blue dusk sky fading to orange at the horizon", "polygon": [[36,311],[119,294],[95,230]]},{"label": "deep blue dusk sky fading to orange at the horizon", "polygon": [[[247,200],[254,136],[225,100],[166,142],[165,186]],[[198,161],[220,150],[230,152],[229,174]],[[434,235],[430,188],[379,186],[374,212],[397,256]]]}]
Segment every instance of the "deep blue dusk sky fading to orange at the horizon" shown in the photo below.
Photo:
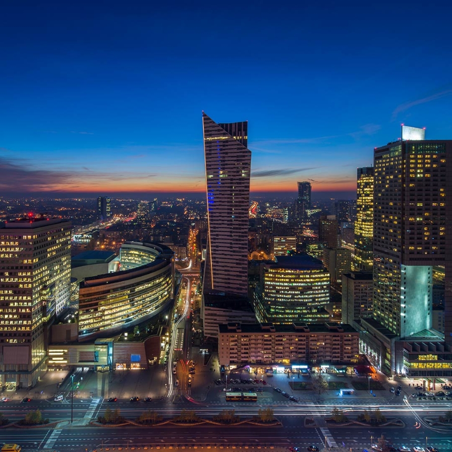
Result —
[{"label": "deep blue dusk sky fading to orange at the horizon", "polygon": [[203,190],[201,111],[252,190],[353,190],[400,124],[452,139],[447,2],[0,3],[0,194]]}]

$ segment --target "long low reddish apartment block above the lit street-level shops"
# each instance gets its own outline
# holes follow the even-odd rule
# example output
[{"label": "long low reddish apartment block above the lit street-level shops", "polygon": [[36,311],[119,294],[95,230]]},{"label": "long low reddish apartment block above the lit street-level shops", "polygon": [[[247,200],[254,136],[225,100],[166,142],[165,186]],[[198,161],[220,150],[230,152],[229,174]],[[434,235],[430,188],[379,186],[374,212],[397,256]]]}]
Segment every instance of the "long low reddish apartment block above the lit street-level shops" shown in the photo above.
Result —
[{"label": "long low reddish apartment block above the lit street-level shops", "polygon": [[235,364],[358,363],[359,333],[338,323],[219,325],[220,366]]}]

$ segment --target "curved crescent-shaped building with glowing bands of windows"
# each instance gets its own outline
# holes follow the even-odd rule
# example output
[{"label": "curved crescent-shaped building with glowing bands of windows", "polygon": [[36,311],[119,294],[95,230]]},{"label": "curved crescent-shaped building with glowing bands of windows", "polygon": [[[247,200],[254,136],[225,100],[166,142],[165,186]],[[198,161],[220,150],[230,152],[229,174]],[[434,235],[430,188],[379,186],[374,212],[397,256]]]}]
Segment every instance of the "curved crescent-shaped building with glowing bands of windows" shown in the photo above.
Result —
[{"label": "curved crescent-shaped building with glowing bands of windows", "polygon": [[79,290],[79,338],[115,333],[152,317],[174,299],[174,254],[126,242],[121,271],[86,278]]}]

